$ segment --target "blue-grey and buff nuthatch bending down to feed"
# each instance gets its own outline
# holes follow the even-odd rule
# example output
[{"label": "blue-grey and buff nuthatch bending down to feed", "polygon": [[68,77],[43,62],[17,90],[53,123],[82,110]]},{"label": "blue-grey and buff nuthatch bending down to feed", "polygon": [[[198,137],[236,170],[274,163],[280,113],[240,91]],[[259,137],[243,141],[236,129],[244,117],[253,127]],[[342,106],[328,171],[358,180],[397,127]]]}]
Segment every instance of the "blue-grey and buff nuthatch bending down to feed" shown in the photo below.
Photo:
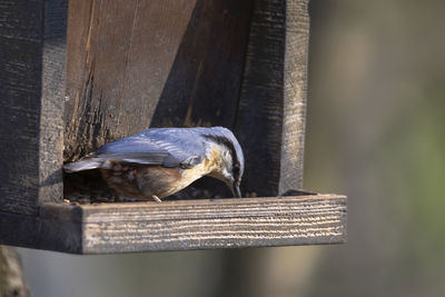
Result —
[{"label": "blue-grey and buff nuthatch bending down to feed", "polygon": [[166,198],[209,176],[241,198],[243,149],[224,127],[150,128],[106,143],[75,162],[67,174],[99,169],[119,200]]}]

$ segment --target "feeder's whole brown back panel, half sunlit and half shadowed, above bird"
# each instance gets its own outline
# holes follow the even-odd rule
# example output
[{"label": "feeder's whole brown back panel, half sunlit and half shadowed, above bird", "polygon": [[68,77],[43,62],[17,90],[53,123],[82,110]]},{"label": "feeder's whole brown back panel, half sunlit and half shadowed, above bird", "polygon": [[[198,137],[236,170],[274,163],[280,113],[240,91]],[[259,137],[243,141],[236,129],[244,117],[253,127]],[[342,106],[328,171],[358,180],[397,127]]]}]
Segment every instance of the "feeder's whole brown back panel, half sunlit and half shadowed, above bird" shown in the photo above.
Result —
[{"label": "feeder's whole brown back panel, half sunlit and half shadowed, above bird", "polygon": [[70,1],[65,160],[149,126],[231,127],[251,6]]}]

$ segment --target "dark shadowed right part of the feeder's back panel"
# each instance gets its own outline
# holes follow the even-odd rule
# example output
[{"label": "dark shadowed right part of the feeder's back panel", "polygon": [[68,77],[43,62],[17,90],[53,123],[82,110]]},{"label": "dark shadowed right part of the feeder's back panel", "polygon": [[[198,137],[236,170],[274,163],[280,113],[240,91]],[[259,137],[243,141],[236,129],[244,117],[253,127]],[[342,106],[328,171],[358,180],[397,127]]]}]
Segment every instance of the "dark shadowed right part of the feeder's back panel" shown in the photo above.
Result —
[{"label": "dark shadowed right part of the feeder's back panel", "polygon": [[197,1],[152,127],[233,129],[253,6],[253,0]]}]

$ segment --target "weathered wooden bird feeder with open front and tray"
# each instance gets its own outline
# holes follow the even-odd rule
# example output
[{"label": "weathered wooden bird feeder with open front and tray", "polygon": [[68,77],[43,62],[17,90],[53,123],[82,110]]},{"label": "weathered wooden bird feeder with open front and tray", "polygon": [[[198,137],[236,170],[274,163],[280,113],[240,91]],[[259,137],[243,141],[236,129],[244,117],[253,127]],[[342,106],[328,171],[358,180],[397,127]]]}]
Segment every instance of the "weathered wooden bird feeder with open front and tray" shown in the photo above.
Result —
[{"label": "weathered wooden bird feeder with open front and tray", "polygon": [[[97,254],[344,242],[346,197],[291,191],[307,2],[3,1],[0,244]],[[65,161],[149,127],[192,126],[235,132],[243,192],[257,197],[63,202]]]}]

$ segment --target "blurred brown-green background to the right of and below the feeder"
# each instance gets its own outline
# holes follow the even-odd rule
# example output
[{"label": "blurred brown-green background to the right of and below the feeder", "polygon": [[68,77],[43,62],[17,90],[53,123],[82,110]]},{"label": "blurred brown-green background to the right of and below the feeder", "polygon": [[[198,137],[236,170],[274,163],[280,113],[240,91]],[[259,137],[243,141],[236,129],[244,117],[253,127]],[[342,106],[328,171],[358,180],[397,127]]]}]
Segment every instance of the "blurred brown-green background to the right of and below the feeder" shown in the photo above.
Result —
[{"label": "blurred brown-green background to the right of and below the feeder", "polygon": [[348,242],[70,256],[20,249],[33,296],[443,296],[445,1],[313,0],[305,188]]}]

